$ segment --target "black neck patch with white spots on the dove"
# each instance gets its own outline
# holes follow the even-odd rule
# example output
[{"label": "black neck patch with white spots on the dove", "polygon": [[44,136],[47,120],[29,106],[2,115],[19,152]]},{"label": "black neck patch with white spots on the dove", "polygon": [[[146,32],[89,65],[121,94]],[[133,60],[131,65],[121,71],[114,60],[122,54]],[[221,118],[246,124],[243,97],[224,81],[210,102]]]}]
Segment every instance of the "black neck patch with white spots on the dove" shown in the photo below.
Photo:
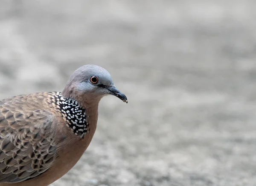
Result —
[{"label": "black neck patch with white spots on the dove", "polygon": [[74,134],[84,137],[89,133],[89,124],[86,116],[86,111],[76,100],[65,99],[60,92],[52,92],[52,103],[60,109],[64,120],[67,121],[67,126],[71,128]]}]

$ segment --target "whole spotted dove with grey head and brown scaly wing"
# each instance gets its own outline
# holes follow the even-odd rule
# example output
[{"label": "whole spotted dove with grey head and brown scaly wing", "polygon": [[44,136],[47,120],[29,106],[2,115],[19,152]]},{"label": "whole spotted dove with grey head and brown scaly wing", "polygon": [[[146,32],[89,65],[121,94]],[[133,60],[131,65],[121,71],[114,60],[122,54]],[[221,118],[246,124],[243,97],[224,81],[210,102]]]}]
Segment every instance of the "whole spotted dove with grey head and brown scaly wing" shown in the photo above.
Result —
[{"label": "whole spotted dove with grey head and brown scaly wing", "polygon": [[99,101],[128,103],[109,72],[84,65],[62,92],[0,100],[0,186],[48,186],[84,154],[96,131]]}]

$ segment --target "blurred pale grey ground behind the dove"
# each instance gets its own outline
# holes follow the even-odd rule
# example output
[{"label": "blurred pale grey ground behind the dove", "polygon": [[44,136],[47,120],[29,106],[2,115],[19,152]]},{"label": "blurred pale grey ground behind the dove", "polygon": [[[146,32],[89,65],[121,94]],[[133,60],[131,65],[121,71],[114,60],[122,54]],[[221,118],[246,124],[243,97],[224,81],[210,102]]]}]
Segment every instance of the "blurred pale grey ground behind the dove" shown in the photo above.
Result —
[{"label": "blurred pale grey ground behind the dove", "polygon": [[255,0],[2,0],[0,99],[107,69],[89,148],[51,186],[256,185]]}]

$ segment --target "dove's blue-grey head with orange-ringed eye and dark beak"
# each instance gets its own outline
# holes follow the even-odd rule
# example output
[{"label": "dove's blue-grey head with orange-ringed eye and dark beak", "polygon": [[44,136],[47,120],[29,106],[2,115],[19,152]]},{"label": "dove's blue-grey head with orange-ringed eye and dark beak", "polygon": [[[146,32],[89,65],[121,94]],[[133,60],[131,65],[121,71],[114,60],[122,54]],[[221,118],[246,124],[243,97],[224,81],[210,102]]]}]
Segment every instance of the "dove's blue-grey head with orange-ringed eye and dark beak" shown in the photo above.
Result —
[{"label": "dove's blue-grey head with orange-ringed eye and dark beak", "polygon": [[71,75],[62,92],[64,98],[75,99],[87,104],[97,103],[102,97],[109,94],[128,103],[125,94],[114,86],[109,72],[96,65],[84,65],[77,69]]}]

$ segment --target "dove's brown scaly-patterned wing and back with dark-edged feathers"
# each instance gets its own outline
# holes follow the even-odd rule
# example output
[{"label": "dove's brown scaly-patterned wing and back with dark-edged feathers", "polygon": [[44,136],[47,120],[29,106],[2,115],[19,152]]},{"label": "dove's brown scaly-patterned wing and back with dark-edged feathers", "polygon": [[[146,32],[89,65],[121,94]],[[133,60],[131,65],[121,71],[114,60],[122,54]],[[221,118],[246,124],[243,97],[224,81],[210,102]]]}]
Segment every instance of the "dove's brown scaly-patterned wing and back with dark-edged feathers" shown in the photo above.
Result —
[{"label": "dove's brown scaly-patterned wing and back with dark-edged feathers", "polygon": [[56,157],[52,113],[45,93],[0,101],[0,183],[17,183],[47,171]]}]

